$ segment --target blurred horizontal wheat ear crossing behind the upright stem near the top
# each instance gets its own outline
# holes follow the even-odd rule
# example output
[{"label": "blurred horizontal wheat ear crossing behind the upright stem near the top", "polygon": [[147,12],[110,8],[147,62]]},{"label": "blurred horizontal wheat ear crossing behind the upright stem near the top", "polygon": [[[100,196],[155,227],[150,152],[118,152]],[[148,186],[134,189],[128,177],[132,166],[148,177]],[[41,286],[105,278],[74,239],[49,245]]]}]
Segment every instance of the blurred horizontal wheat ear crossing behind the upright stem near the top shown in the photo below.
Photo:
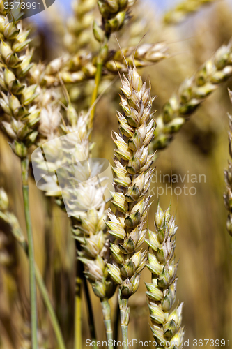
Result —
[{"label": "blurred horizontal wheat ear crossing behind the upright stem near the top", "polygon": [[[169,57],[165,43],[144,44],[139,47],[123,47],[122,50],[109,50],[102,64],[102,75],[109,78],[113,75],[127,72],[127,64],[134,64],[137,68],[156,64]],[[123,54],[122,54],[123,53]],[[123,57],[124,56],[124,57]],[[126,59],[126,62],[125,62]],[[86,80],[93,80],[97,71],[98,57],[87,50],[75,55],[64,55],[54,59],[47,66],[35,65],[31,71],[33,80],[41,87],[58,87],[61,80],[65,84],[76,84]]]}]

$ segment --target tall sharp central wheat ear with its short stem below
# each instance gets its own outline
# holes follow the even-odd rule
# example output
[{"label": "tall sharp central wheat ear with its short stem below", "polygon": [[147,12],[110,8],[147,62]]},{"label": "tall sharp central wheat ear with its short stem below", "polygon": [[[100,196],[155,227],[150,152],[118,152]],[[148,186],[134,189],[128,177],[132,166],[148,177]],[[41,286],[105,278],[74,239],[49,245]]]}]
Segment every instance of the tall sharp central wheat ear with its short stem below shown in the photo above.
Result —
[{"label": "tall sharp central wheat ear with its short stem below", "polygon": [[[111,243],[112,264],[109,274],[119,285],[119,306],[123,340],[127,341],[127,327],[130,318],[128,298],[137,291],[141,270],[146,265],[146,251],[141,250],[146,229],[144,224],[148,213],[150,197],[146,197],[153,170],[154,154],[148,155],[148,144],[155,130],[154,113],[151,111],[155,98],[150,88],[142,82],[136,68],[128,68],[121,87],[121,107],[118,112],[120,133],[114,133],[114,186],[112,204],[116,214],[109,210],[109,233],[116,238]],[[125,346],[127,348],[127,345]]]}]

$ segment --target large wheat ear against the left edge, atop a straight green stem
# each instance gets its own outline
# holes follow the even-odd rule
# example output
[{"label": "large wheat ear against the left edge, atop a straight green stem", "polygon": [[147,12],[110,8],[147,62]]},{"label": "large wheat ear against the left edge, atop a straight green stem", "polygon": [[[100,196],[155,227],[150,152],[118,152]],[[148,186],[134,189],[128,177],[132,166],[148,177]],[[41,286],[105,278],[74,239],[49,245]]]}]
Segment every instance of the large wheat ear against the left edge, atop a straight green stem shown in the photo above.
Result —
[{"label": "large wheat ear against the left edge, atop a straight green stem", "polygon": [[33,65],[30,63],[32,52],[28,49],[31,40],[27,39],[29,30],[22,29],[19,23],[10,23],[5,10],[1,10],[1,22],[1,127],[10,138],[10,147],[15,154],[24,158],[27,149],[36,141],[40,120],[40,110],[33,103],[38,96],[37,86],[26,85],[26,75]]}]

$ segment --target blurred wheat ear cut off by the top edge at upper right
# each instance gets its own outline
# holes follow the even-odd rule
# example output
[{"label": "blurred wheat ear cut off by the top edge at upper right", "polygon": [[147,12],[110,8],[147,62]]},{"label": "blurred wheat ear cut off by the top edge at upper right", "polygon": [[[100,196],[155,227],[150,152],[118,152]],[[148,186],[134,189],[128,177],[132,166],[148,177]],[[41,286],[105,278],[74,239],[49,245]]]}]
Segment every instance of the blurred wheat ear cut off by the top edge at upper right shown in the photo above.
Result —
[{"label": "blurred wheat ear cut off by the top edge at upper right", "polygon": [[176,8],[164,15],[165,24],[175,24],[182,22],[188,15],[197,12],[202,6],[215,3],[217,0],[184,0],[178,3]]}]

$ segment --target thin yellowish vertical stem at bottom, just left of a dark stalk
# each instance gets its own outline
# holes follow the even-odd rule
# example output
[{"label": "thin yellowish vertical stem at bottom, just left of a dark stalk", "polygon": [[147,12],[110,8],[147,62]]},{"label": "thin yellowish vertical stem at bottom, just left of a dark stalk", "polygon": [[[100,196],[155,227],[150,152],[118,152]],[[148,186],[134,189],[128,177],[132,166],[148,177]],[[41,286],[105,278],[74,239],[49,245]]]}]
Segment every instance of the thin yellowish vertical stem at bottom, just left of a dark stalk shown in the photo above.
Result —
[{"label": "thin yellowish vertical stem at bottom, just left of a dark stalk", "polygon": [[82,277],[83,265],[76,263],[76,290],[75,290],[75,349],[82,349]]}]

